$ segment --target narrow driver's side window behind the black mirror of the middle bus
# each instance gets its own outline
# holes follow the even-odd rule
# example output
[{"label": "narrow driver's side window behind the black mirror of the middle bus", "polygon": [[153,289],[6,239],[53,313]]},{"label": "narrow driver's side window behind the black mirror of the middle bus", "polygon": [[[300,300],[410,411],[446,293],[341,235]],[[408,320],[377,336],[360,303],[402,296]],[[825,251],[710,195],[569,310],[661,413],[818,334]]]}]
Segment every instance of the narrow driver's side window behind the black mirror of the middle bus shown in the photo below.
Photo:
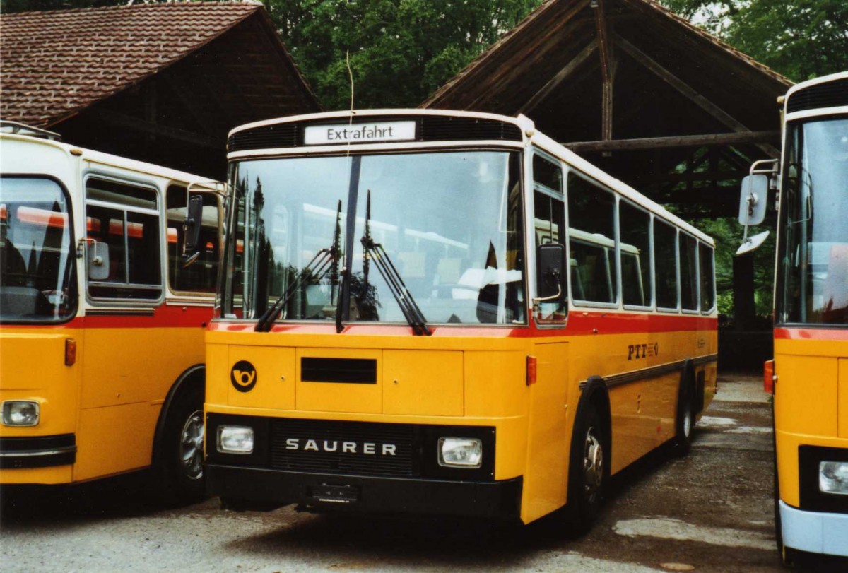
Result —
[{"label": "narrow driver's side window behind the black mirror of the middle bus", "polygon": [[[558,243],[565,246],[566,208],[562,193],[562,168],[540,155],[533,155],[533,220],[536,247]],[[565,279],[563,279],[564,281]],[[566,290],[560,300],[538,303],[540,323],[566,319]]]}]

